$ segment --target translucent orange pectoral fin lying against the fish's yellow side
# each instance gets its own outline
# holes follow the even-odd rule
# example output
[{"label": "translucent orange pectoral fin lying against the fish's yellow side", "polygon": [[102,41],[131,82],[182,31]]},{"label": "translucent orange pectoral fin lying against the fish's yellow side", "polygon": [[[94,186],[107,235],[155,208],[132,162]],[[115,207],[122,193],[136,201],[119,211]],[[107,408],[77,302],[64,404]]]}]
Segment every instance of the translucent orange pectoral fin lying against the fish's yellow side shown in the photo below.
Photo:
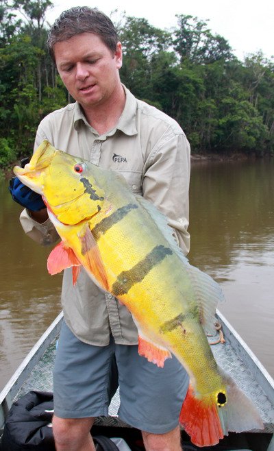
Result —
[{"label": "translucent orange pectoral fin lying against the fish's yellow side", "polygon": [[101,254],[94,236],[90,232],[88,225],[84,233],[79,236],[82,243],[82,256],[84,267],[92,273],[92,276],[99,282],[100,286],[108,291],[108,277],[101,259]]}]

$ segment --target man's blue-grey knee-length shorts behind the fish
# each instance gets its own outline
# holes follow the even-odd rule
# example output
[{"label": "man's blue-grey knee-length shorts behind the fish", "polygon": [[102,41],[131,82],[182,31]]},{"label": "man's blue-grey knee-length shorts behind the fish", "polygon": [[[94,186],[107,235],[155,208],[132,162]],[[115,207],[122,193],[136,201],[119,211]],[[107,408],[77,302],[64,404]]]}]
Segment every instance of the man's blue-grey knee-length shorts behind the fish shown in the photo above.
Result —
[{"label": "man's blue-grey knee-length shorts behind the fish", "polygon": [[138,354],[137,345],[88,345],[63,321],[53,370],[55,415],[61,418],[108,415],[119,385],[119,418],[153,434],[179,423],[188,375],[173,358],[158,368]]}]

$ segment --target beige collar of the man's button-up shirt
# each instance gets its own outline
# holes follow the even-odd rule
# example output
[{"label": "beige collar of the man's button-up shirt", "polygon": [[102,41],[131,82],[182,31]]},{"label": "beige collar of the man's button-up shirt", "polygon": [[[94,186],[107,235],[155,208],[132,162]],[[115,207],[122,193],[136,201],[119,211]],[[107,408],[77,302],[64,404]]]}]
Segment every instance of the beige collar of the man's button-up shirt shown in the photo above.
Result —
[{"label": "beige collar of the man's button-up shirt", "polygon": [[[123,109],[123,112],[119,118],[119,121],[116,125],[116,127],[112,130],[110,130],[109,133],[106,134],[114,134],[116,130],[121,130],[121,132],[132,136],[134,134],[137,134],[137,128],[136,128],[136,110],[137,110],[137,103],[136,98],[132,93],[124,86],[122,85],[125,90],[125,108]],[[78,102],[75,102],[75,110],[74,110],[74,127],[75,130],[78,130],[79,122],[83,121],[88,127],[90,125],[88,124],[88,121],[86,120],[86,117],[84,115],[84,112],[82,111],[82,108]]]}]

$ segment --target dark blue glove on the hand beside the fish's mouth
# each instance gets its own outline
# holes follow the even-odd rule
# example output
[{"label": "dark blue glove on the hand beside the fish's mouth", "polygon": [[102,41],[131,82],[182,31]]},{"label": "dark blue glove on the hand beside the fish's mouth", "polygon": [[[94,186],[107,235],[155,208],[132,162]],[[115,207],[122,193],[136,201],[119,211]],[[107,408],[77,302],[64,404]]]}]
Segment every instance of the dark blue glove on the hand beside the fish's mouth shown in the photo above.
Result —
[{"label": "dark blue glove on the hand beside the fish's mouth", "polygon": [[[28,161],[28,158],[24,158],[21,161],[21,167],[24,167]],[[46,208],[42,196],[32,191],[28,186],[25,186],[18,177],[12,177],[10,179],[9,191],[12,199],[28,210],[38,211]]]}]

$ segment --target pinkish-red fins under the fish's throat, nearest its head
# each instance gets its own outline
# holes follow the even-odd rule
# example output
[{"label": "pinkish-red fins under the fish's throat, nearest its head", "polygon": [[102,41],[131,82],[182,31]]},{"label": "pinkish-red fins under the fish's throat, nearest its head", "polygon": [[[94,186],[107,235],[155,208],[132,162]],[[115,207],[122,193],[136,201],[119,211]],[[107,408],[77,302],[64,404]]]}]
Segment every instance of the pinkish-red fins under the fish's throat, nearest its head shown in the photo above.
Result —
[{"label": "pinkish-red fins under the fish's throat, nearest its head", "polygon": [[66,247],[62,241],[52,249],[47,259],[47,269],[51,275],[73,267],[73,284],[76,283],[80,265],[81,263],[75,256],[73,249]]}]

